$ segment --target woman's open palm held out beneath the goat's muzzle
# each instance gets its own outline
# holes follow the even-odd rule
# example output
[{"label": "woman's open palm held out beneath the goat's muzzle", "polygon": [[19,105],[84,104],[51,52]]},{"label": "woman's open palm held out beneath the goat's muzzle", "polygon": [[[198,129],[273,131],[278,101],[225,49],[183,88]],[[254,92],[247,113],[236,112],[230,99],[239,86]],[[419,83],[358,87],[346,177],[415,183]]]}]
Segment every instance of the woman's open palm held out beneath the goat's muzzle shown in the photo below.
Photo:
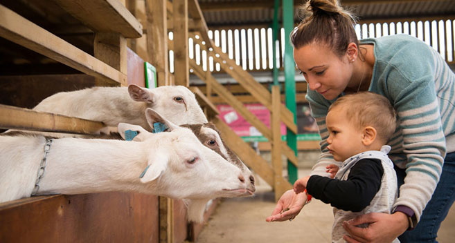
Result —
[{"label": "woman's open palm held out beneath the goat's muzzle", "polygon": [[294,190],[289,190],[281,195],[280,200],[276,204],[274,211],[271,213],[271,216],[267,217],[265,221],[285,221],[292,220],[300,211],[307,202],[306,193],[294,193]]}]

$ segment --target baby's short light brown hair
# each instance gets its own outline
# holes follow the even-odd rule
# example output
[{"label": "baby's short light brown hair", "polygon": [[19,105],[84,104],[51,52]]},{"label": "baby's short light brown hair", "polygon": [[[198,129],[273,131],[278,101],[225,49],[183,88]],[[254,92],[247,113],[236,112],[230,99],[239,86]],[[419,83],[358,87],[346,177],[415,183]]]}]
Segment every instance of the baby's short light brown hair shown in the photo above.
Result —
[{"label": "baby's short light brown hair", "polygon": [[377,137],[388,142],[395,133],[397,114],[389,99],[371,92],[359,92],[338,98],[328,109],[343,108],[346,117],[359,129],[373,126]]}]

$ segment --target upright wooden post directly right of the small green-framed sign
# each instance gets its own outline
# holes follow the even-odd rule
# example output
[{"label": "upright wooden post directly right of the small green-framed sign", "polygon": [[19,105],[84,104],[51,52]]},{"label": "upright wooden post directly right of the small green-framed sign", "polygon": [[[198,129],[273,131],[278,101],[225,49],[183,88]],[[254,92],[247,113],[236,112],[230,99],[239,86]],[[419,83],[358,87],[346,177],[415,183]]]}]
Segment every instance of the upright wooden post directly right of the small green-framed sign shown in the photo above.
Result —
[{"label": "upright wooden post directly right of the small green-framed sign", "polygon": [[158,86],[170,85],[166,3],[166,0],[145,0],[148,57],[157,68]]}]

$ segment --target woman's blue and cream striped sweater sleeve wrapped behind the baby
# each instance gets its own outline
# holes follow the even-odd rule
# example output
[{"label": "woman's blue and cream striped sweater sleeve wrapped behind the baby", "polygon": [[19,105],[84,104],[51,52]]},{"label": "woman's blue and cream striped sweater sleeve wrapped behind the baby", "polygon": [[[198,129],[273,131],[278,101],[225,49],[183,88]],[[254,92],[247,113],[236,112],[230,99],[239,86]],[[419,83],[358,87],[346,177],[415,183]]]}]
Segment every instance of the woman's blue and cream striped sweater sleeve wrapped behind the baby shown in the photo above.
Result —
[{"label": "woman's blue and cream striped sweater sleeve wrapped behind the baby", "polygon": [[389,98],[400,121],[389,141],[389,157],[406,168],[407,175],[394,206],[408,206],[420,220],[439,181],[446,151],[436,95],[440,55],[417,39],[402,41],[399,47],[389,59],[377,60],[377,90]]}]

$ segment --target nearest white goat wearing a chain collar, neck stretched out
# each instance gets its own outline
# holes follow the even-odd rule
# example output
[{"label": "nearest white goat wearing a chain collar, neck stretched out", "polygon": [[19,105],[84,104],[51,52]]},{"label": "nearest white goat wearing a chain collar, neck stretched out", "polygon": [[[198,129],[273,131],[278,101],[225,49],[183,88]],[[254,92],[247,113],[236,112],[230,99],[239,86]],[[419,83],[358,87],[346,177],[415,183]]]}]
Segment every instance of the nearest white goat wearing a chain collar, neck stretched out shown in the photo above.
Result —
[{"label": "nearest white goat wearing a chain collar, neck stretched out", "polygon": [[[190,129],[168,122],[152,109],[145,113],[149,124],[161,122],[168,127],[166,132],[152,134],[119,124],[121,134],[139,130],[134,140],[141,142],[53,139],[37,195],[136,191],[207,200],[245,193],[237,166],[203,146]],[[39,135],[0,136],[0,202],[30,196],[45,143]]]}]

